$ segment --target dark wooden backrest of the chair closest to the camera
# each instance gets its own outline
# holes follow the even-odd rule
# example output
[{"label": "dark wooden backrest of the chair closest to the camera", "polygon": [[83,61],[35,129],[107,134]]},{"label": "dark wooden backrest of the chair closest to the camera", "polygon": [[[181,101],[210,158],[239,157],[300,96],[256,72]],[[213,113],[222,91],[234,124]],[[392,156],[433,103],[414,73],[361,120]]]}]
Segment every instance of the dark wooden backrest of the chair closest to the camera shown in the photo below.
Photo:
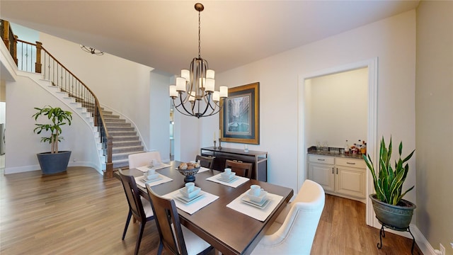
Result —
[{"label": "dark wooden backrest of the chair closest to the camera", "polygon": [[173,254],[188,254],[175,201],[157,195],[148,185],[147,191],[153,205],[154,220],[159,230],[159,237],[165,249]]}]

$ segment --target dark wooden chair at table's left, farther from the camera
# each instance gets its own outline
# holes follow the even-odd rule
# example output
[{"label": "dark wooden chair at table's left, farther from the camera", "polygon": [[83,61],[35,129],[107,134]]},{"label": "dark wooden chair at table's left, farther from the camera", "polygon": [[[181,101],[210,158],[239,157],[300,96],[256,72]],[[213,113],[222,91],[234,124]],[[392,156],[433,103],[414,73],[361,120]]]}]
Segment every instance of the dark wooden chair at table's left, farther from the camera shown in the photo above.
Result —
[{"label": "dark wooden chair at table's left, farther from the camera", "polygon": [[139,222],[139,234],[137,236],[137,243],[135,244],[134,252],[134,254],[138,254],[140,242],[142,242],[144,225],[150,220],[154,220],[154,213],[151,208],[151,203],[140,196],[134,176],[123,174],[121,169],[118,169],[118,173],[120,174],[122,187],[125,189],[127,203],[129,204],[129,212],[127,213],[125,230],[122,232],[121,239],[125,239],[127,227],[129,227],[130,219],[133,216],[134,219]]}]

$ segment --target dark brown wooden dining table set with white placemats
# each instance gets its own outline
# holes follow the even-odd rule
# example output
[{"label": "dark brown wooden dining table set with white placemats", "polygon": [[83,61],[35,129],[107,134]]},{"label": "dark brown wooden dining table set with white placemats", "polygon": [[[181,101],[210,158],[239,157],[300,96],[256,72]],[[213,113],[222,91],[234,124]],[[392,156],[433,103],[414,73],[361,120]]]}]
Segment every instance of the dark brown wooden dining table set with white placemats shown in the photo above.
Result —
[{"label": "dark brown wooden dining table set with white placemats", "polygon": [[[159,196],[171,198],[171,194],[176,194],[176,191],[185,187],[185,176],[177,169],[180,163],[172,161],[160,169],[156,168],[156,172],[164,179],[154,185],[151,183],[150,188]],[[181,210],[176,203],[181,224],[222,254],[251,254],[266,230],[292,198],[294,191],[292,188],[243,177],[239,177],[239,186],[229,185],[216,181],[215,177],[221,174],[221,171],[201,169],[195,174],[195,186],[209,195],[202,199],[210,200],[207,205],[195,211]],[[136,176],[141,195],[149,199],[146,187],[140,183],[144,174],[143,168],[127,169],[123,170],[123,173]],[[253,184],[259,185],[268,193],[268,198],[272,198],[270,205],[266,205],[268,210],[266,215],[260,215],[260,210],[265,210],[263,208],[239,203],[239,198],[243,198]],[[236,210],[235,207],[242,210]],[[252,215],[253,210],[261,218]]]}]

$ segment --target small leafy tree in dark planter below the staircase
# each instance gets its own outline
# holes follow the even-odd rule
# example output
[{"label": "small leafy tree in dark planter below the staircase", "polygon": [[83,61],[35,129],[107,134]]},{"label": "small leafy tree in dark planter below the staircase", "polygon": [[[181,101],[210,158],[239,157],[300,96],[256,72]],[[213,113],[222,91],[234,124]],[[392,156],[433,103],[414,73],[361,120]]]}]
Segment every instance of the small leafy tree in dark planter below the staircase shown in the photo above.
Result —
[{"label": "small leafy tree in dark planter below the staircase", "polygon": [[66,171],[71,151],[58,150],[58,142],[64,138],[62,134],[62,125],[71,125],[72,113],[70,111],[63,111],[62,108],[45,106],[43,108],[35,107],[37,113],[33,114],[32,118],[38,121],[40,116],[46,116],[50,123],[40,124],[36,123],[36,128],[33,130],[36,134],[40,135],[42,131],[50,131],[50,136],[41,137],[41,142],[50,143],[50,152],[38,153],[38,162],[40,162],[41,171],[43,174],[56,174]]}]

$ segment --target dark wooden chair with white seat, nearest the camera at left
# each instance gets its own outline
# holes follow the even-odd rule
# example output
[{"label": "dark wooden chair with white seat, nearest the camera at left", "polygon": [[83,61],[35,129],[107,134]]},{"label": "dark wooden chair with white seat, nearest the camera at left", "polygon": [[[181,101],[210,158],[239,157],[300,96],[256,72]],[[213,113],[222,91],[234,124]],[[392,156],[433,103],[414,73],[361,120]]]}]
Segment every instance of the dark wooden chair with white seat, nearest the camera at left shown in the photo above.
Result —
[{"label": "dark wooden chair with white seat, nearest the camera at left", "polygon": [[205,240],[180,225],[178,210],[173,199],[157,195],[148,184],[147,191],[156,215],[156,227],[159,230],[160,242],[157,254],[162,254],[163,249],[178,255],[207,254],[213,249]]}]

